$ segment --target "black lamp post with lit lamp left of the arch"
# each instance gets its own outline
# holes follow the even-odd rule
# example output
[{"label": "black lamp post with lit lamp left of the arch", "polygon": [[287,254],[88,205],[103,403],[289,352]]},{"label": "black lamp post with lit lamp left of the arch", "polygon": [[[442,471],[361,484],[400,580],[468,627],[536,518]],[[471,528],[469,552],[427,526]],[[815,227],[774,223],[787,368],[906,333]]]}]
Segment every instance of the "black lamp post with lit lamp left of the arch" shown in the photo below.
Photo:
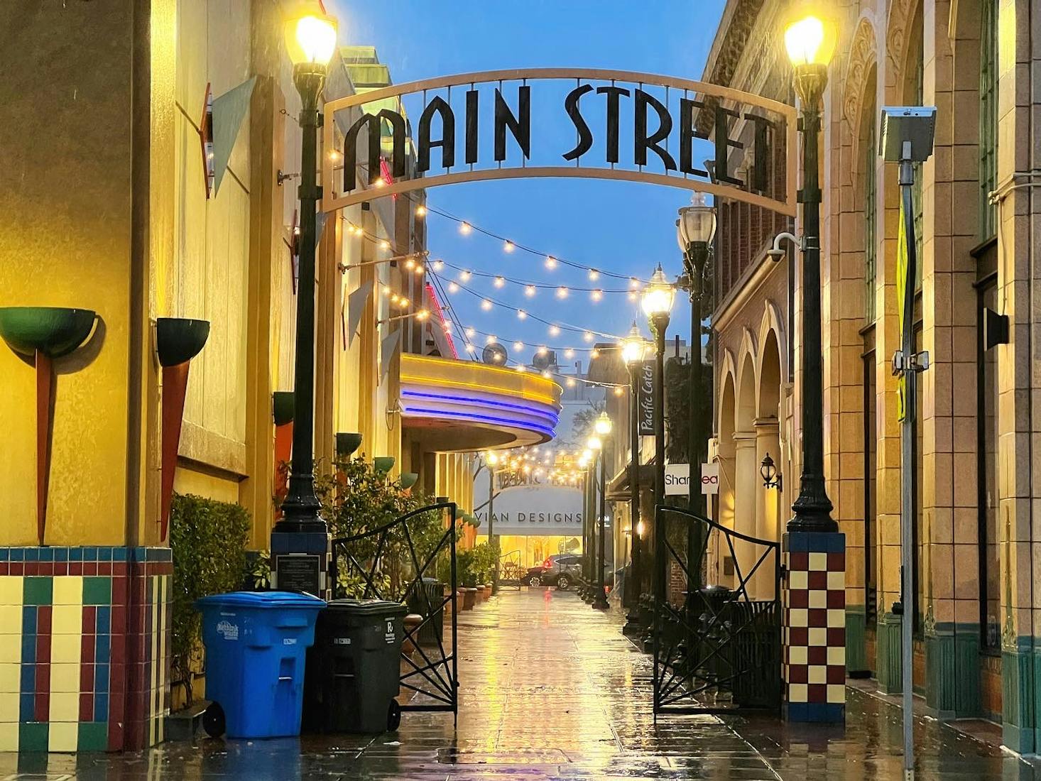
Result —
[{"label": "black lamp post with lit lamp left of the arch", "polygon": [[293,82],[300,93],[300,284],[297,288],[297,358],[294,383],[293,464],[289,490],[282,502],[277,532],[328,531],[319,517],[314,494],[314,245],[315,208],[322,198],[316,182],[319,101],[329,60],[336,48],[336,22],[308,15],[288,23],[286,45]]}]

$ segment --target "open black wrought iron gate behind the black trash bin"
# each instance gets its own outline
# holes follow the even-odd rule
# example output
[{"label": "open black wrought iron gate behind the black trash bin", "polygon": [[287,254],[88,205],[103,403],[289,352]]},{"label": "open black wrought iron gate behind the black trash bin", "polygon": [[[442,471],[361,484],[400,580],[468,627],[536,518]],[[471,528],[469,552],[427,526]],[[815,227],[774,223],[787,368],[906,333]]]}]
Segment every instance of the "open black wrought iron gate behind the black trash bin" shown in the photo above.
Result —
[{"label": "open black wrought iron gate behind the black trash bin", "polygon": [[[437,538],[416,539],[409,521],[426,512],[439,512],[448,528]],[[443,579],[429,577],[437,572]],[[401,602],[423,616],[417,626],[405,628],[401,685],[415,694],[401,709],[450,710],[458,715],[456,505],[431,504],[378,529],[332,540],[332,579],[335,597]],[[448,646],[446,607],[452,619]]]}]

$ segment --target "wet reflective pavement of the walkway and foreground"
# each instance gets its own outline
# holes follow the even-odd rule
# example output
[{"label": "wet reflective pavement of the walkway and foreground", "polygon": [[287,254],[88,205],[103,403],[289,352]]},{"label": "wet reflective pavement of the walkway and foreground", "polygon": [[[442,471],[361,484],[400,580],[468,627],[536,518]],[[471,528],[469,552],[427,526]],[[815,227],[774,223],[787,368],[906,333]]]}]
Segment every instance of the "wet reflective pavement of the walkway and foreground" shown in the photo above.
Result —
[{"label": "wet reflective pavement of the walkway and foreground", "polygon": [[[0,780],[898,779],[900,712],[847,689],[845,727],[651,712],[651,658],[620,611],[503,591],[460,613],[458,725],[406,712],[397,733],[168,742],[144,754],[0,755]],[[1041,767],[919,717],[921,779],[1041,781]],[[24,774],[24,775],[22,775]]]}]

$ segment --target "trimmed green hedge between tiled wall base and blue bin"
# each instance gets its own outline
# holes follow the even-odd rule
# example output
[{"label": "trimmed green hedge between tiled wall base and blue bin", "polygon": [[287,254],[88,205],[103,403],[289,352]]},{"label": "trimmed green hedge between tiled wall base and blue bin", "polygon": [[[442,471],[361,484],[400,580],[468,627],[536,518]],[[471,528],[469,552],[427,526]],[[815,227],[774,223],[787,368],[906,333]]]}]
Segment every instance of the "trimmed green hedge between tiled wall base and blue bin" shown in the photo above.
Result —
[{"label": "trimmed green hedge between tiled wall base and blue bin", "polygon": [[202,618],[195,601],[242,587],[250,515],[237,504],[174,495],[170,547],[174,552],[171,669],[174,681],[192,695],[192,659],[200,647]]}]

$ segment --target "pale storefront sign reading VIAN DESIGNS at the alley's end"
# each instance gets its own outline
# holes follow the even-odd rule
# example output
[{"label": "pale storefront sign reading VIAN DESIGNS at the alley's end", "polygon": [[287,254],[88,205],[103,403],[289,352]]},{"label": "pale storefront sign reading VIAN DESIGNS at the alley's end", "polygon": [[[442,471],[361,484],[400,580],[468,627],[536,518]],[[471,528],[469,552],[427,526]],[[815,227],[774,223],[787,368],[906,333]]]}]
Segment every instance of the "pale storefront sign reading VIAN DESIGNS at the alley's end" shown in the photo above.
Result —
[{"label": "pale storefront sign reading VIAN DESIGNS at the alley's end", "polygon": [[[488,531],[488,508],[474,513]],[[564,485],[515,485],[492,502],[492,533],[553,536],[582,534],[582,492]]]}]

